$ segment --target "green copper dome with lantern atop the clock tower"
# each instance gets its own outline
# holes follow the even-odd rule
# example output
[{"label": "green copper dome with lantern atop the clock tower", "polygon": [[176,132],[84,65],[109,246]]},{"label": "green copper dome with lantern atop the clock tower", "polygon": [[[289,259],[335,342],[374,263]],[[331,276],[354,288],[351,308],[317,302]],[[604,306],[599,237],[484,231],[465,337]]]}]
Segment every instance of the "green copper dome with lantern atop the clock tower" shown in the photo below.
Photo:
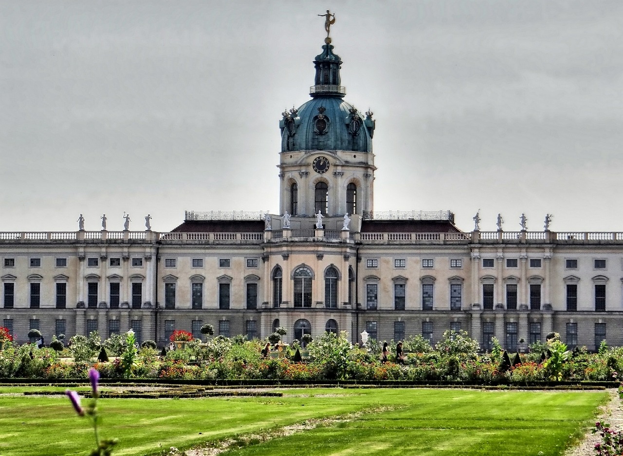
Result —
[{"label": "green copper dome with lantern atop the clock tower", "polygon": [[346,88],[340,85],[340,56],[333,45],[325,44],[316,55],[315,85],[310,88],[312,100],[298,109],[282,113],[281,150],[344,150],[371,152],[374,121],[372,113],[361,114],[343,100]]}]

